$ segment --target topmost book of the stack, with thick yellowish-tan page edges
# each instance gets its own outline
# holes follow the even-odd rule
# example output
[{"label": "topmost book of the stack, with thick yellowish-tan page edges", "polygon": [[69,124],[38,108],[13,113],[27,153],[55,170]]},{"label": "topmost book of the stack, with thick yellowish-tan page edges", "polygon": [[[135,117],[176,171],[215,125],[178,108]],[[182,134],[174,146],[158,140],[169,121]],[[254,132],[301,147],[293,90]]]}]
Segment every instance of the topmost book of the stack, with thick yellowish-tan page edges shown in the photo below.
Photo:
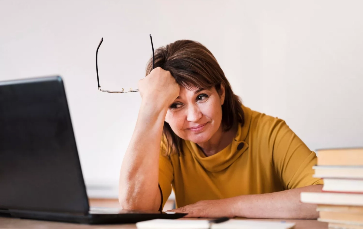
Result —
[{"label": "topmost book of the stack, with thick yellowish-tan page edges", "polygon": [[363,165],[363,148],[317,150],[318,165]]}]

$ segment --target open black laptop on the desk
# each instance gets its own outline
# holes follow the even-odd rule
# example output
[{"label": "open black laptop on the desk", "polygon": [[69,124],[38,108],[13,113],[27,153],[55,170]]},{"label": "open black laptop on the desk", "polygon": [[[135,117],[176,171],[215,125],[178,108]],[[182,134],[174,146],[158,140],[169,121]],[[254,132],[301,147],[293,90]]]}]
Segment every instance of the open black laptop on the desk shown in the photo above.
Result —
[{"label": "open black laptop on the desk", "polygon": [[0,216],[106,224],[184,215],[90,209],[61,77],[0,82]]}]

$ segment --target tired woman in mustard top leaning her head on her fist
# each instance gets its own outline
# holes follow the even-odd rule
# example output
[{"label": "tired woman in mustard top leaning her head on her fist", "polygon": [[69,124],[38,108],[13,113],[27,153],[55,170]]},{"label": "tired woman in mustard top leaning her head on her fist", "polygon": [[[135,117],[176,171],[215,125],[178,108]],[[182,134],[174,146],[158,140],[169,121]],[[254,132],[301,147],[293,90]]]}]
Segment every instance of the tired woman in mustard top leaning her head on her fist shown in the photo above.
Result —
[{"label": "tired woman in mustard top leaning her head on her fist", "polygon": [[[317,218],[300,192],[320,191],[315,153],[278,118],[233,94],[195,41],[156,50],[139,81],[142,103],[123,159],[123,208],[161,210],[173,188],[187,217]],[[161,144],[160,144],[161,142]]]}]

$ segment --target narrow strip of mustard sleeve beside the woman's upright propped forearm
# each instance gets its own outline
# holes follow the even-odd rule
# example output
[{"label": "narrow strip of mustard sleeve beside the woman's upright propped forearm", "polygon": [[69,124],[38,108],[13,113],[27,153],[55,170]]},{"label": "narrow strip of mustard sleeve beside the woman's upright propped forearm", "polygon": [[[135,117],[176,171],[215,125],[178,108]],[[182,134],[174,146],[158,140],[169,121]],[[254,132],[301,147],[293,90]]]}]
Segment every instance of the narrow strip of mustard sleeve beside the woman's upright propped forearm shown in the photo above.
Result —
[{"label": "narrow strip of mustard sleeve beside the woman's upright propped forearm", "polygon": [[162,196],[162,203],[160,203],[160,210],[164,208],[164,205],[170,196],[171,182],[174,179],[173,167],[166,152],[167,152],[166,144],[162,141],[160,144],[160,155],[159,155],[159,189]]}]

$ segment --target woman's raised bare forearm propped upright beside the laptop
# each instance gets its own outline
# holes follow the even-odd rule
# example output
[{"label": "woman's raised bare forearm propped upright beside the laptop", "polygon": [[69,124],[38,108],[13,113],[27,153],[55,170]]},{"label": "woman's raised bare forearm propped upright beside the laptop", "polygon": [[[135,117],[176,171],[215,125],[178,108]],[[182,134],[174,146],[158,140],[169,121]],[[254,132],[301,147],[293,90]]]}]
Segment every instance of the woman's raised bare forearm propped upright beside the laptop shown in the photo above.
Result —
[{"label": "woman's raised bare forearm propped upright beside the laptop", "polygon": [[123,208],[158,210],[159,151],[167,108],[143,101],[123,158],[119,201]]}]

